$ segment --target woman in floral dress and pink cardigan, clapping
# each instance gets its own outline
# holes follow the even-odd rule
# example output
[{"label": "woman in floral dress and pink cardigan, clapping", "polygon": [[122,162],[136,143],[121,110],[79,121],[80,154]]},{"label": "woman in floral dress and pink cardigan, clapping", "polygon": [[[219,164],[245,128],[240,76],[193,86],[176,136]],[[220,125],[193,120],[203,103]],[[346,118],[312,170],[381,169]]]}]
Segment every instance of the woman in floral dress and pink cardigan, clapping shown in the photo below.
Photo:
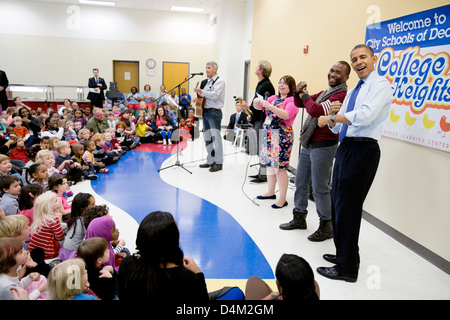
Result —
[{"label": "woman in floral dress and pink cardigan, clapping", "polygon": [[280,209],[288,205],[286,193],[289,184],[286,169],[289,169],[289,159],[294,143],[292,125],[298,113],[294,104],[295,79],[284,76],[278,83],[278,96],[272,96],[267,101],[256,98],[253,106],[258,110],[265,110],[266,121],[261,136],[261,163],[267,166],[267,193],[258,199],[277,199],[275,187],[278,183],[280,195],[272,205]]}]

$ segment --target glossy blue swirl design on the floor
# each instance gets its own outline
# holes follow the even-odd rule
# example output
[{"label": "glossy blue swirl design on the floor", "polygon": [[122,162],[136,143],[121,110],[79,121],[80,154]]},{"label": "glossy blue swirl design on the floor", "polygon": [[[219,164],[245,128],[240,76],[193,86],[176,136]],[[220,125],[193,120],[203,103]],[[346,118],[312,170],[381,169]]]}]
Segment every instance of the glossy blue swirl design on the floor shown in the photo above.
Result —
[{"label": "glossy blue swirl design on the floor", "polygon": [[[274,279],[258,246],[229,213],[161,179],[158,170],[170,156],[129,151],[110,166],[109,174],[92,181],[92,188],[138,223],[153,211],[172,213],[185,256],[194,259],[207,279]],[[180,178],[183,174],[180,171]]]}]

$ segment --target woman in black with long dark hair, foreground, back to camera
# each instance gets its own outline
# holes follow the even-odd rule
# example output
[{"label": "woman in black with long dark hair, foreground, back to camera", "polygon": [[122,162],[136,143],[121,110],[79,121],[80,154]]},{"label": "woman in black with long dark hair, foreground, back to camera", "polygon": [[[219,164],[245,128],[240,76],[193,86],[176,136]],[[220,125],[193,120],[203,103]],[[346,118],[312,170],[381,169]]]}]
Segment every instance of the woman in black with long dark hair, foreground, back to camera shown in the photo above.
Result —
[{"label": "woman in black with long dark hair, foreground, back to camera", "polygon": [[120,264],[119,299],[208,300],[205,277],[192,259],[184,257],[179,240],[180,232],[170,213],[147,215],[137,232],[137,254]]}]

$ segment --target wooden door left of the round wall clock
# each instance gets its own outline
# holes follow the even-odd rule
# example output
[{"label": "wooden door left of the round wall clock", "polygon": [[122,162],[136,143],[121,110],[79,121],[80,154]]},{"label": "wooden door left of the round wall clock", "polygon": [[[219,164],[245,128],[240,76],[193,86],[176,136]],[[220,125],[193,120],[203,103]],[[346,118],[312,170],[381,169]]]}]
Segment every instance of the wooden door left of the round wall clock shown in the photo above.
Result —
[{"label": "wooden door left of the round wall clock", "polygon": [[[114,82],[125,97],[131,92],[131,87],[139,88],[139,61],[113,61]],[[109,87],[109,84],[108,84]]]}]

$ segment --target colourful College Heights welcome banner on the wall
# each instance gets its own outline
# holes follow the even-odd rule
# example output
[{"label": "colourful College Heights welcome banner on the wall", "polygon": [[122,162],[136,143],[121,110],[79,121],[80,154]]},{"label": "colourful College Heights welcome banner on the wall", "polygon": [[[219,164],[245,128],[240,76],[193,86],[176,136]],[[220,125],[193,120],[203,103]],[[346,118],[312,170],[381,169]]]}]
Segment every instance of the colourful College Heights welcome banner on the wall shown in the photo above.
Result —
[{"label": "colourful College Heights welcome banner on the wall", "polygon": [[450,151],[450,5],[367,26],[394,90],[383,135]]}]

